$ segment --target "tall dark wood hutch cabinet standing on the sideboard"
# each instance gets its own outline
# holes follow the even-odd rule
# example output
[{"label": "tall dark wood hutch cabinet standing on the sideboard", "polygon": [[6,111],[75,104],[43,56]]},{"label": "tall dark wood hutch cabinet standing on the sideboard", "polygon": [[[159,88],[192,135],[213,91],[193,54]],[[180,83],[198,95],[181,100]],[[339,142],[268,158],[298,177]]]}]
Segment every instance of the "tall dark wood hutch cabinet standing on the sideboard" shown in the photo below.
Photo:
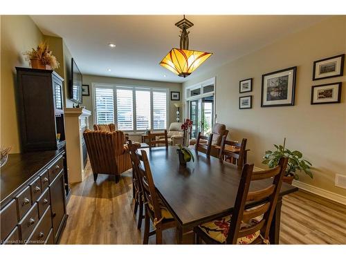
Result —
[{"label": "tall dark wood hutch cabinet standing on the sideboard", "polygon": [[23,151],[64,147],[64,79],[53,70],[16,69]]}]

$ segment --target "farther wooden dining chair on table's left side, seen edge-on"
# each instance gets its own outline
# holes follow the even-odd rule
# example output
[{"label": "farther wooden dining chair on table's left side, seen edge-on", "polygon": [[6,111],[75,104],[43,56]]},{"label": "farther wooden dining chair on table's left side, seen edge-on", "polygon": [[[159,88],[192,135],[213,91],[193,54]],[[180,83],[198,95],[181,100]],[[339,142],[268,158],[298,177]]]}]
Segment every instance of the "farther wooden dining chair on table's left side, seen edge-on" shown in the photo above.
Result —
[{"label": "farther wooden dining chair on table's left side, seen edge-on", "polygon": [[143,191],[140,184],[140,178],[138,176],[138,157],[136,156],[136,150],[138,149],[138,144],[133,144],[131,140],[127,140],[127,145],[129,146],[129,154],[132,163],[132,198],[134,199],[134,214],[136,215],[138,208],[138,222],[137,229],[142,227],[143,215]]}]

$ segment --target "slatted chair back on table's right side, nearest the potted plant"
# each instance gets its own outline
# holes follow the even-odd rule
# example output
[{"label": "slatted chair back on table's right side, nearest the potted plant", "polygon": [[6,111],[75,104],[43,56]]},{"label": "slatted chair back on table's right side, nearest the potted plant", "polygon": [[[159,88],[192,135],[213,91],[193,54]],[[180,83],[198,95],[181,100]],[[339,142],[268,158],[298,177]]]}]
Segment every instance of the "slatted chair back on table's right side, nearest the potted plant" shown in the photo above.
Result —
[{"label": "slatted chair back on table's right side, nearest the potted plant", "polygon": [[[242,142],[233,142],[226,140],[226,136],[222,137],[221,140],[221,146],[219,151],[219,159],[224,160],[225,157],[230,158],[230,162],[233,164],[237,164],[239,167],[243,167],[245,164],[245,155],[246,155],[246,142],[247,140],[244,138],[242,139]],[[225,147],[228,146],[236,146],[239,148],[239,151],[237,153],[233,151],[228,151]]]}]

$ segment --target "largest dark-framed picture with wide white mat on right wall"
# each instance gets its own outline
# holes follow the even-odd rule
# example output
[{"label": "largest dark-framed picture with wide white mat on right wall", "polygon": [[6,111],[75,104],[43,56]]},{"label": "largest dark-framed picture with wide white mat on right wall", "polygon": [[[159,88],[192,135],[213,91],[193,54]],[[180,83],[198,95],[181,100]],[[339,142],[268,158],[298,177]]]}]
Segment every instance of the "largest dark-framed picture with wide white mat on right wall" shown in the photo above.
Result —
[{"label": "largest dark-framed picture with wide white mat on right wall", "polygon": [[297,67],[262,75],[261,107],[293,106]]}]

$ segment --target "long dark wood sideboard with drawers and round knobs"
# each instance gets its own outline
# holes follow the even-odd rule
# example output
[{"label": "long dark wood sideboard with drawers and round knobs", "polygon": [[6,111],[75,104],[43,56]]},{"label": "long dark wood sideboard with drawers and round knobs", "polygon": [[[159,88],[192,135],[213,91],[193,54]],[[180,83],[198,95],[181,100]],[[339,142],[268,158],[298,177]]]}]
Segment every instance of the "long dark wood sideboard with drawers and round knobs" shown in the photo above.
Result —
[{"label": "long dark wood sideboard with drawers and round knobs", "polygon": [[1,244],[57,244],[65,227],[65,151],[10,154],[1,168]]}]

